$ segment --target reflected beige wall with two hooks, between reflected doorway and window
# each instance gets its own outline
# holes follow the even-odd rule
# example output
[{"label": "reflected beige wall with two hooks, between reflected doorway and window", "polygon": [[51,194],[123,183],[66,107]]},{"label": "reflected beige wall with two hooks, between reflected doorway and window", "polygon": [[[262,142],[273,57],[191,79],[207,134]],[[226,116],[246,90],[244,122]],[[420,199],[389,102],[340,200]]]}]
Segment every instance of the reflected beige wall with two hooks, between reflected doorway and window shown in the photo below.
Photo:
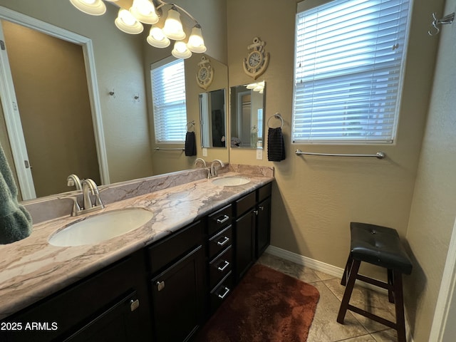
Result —
[{"label": "reflected beige wall with two hooks, between reflected doorway and window", "polygon": [[[70,1],[0,0],[0,6],[92,39],[110,181],[152,175],[142,38],[115,28],[115,6],[96,17],[78,11]],[[113,89],[115,98],[108,95]]]}]

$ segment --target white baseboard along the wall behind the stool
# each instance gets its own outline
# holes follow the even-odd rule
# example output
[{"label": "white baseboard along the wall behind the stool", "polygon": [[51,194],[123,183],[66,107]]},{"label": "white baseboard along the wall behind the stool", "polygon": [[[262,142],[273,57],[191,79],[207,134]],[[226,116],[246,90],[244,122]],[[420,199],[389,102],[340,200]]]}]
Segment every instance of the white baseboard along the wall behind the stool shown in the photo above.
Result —
[{"label": "white baseboard along the wall behind the stool", "polygon": [[[316,271],[329,274],[330,276],[342,278],[343,275],[343,269],[341,269],[340,267],[326,264],[325,262],[314,260],[308,257],[304,257],[303,255],[289,252],[286,249],[281,249],[275,246],[269,246],[265,252],[274,255],[275,257],[279,257],[294,262],[295,264],[306,266],[310,269],[314,269]],[[372,284],[368,284],[364,281],[357,280],[357,284],[360,284],[361,286],[366,287],[368,289],[372,289],[373,291],[388,294],[388,291],[386,291],[385,289],[378,288],[378,286],[373,286]],[[410,333],[410,324],[408,323],[407,311],[405,311],[405,328],[406,331],[408,331],[407,341],[413,342],[413,336]]]}]

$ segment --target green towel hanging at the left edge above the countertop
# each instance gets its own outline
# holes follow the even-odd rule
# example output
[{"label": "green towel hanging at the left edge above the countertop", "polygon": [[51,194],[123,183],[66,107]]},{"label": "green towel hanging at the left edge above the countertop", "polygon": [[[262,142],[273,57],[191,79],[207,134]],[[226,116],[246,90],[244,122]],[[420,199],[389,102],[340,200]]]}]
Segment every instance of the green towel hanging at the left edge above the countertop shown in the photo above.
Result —
[{"label": "green towel hanging at the left edge above the countertop", "polygon": [[0,145],[0,244],[24,239],[31,229],[31,216],[17,200],[16,183]]}]

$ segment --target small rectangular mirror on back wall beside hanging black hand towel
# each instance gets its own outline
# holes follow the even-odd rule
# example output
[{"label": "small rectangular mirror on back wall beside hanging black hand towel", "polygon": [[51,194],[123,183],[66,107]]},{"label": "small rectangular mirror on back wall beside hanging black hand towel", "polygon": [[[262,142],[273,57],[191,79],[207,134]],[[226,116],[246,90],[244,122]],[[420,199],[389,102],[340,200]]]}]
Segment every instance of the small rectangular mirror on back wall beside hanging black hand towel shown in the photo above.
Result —
[{"label": "small rectangular mirror on back wall beside hanging black hand towel", "polygon": [[230,88],[231,147],[263,148],[263,82]]}]

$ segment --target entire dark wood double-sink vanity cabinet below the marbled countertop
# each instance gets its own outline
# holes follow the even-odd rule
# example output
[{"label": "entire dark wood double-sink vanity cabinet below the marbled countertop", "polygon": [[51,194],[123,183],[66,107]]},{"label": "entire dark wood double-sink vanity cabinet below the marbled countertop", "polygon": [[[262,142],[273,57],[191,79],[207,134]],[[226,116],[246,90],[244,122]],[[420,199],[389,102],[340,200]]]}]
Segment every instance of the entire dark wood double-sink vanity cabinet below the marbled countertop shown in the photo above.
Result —
[{"label": "entire dark wood double-sink vanity cabinet below the marbled countertop", "polygon": [[271,183],[5,318],[0,341],[190,341],[269,246],[270,214]]}]

